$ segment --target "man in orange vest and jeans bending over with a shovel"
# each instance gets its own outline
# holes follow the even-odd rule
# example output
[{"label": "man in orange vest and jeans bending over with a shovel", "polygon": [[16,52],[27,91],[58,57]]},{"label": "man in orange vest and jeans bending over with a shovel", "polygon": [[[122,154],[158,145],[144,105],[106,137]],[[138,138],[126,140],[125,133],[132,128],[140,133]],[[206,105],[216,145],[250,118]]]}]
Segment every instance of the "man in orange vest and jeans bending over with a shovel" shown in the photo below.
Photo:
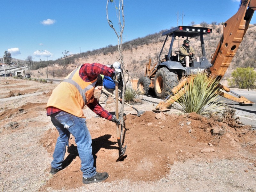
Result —
[{"label": "man in orange vest and jeans bending over with a shovel", "polygon": [[108,178],[108,173],[96,172],[93,165],[92,139],[82,109],[87,105],[97,115],[120,124],[120,120],[103,109],[93,96],[99,74],[110,76],[113,80],[120,76],[118,72],[102,64],[85,63],[72,71],[52,91],[46,106],[47,116],[51,117],[52,124],[60,134],[55,145],[50,173],[55,174],[61,170],[71,133],[75,137],[81,159],[84,184],[103,181]]}]

